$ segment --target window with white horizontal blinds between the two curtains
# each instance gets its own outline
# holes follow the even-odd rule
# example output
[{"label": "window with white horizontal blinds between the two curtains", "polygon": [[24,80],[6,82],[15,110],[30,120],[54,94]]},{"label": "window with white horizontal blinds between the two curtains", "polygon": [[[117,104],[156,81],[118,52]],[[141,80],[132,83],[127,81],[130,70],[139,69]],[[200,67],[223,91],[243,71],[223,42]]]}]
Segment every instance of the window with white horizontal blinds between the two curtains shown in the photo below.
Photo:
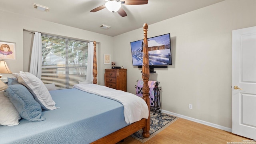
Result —
[{"label": "window with white horizontal blinds between the two curtains", "polygon": [[44,84],[56,89],[72,88],[86,80],[88,42],[42,34],[42,76]]}]

